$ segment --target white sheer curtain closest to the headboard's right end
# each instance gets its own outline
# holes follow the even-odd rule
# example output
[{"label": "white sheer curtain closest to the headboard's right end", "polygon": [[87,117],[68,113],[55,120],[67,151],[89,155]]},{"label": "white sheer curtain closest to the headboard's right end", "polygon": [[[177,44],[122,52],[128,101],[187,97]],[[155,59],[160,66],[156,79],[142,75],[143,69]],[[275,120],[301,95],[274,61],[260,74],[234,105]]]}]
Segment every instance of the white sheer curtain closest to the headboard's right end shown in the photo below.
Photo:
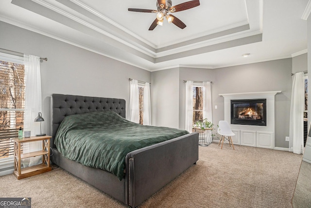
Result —
[{"label": "white sheer curtain closest to the headboard's right end", "polygon": [[130,102],[127,111],[127,120],[139,123],[139,93],[138,80],[132,79],[130,82]]}]

